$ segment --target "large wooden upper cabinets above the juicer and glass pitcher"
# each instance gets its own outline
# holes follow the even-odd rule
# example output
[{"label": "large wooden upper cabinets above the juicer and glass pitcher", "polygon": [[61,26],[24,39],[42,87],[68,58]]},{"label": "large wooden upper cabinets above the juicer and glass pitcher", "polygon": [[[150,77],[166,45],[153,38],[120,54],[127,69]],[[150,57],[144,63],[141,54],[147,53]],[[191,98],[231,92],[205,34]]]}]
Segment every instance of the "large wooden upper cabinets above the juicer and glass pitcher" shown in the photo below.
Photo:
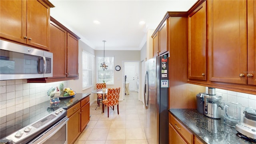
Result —
[{"label": "large wooden upper cabinets above the juicer and glass pitcher", "polygon": [[255,10],[255,0],[198,0],[192,6],[188,83],[256,94]]}]

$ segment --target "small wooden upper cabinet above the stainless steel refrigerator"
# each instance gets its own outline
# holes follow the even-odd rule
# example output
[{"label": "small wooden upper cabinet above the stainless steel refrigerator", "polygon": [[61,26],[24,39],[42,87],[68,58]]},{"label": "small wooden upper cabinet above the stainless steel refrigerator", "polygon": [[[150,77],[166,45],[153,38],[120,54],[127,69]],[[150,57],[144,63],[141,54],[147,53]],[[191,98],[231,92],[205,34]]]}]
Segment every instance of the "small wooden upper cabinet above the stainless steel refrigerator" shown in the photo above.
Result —
[{"label": "small wooden upper cabinet above the stainless steel refrigerator", "polygon": [[[166,20],[167,21],[167,20]],[[168,35],[167,35],[167,22],[164,22],[158,31],[153,35],[153,57],[160,56],[168,51]]]}]

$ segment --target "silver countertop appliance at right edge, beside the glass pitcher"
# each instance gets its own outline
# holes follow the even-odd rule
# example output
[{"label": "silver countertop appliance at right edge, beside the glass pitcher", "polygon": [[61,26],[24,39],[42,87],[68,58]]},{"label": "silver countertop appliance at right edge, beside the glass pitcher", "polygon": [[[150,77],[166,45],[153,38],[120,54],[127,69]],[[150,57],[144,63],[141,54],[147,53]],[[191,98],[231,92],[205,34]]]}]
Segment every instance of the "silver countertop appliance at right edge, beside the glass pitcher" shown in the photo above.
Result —
[{"label": "silver countertop appliance at right edge, beside the glass pitcher", "polygon": [[256,142],[256,110],[244,109],[243,122],[236,124],[236,131]]}]

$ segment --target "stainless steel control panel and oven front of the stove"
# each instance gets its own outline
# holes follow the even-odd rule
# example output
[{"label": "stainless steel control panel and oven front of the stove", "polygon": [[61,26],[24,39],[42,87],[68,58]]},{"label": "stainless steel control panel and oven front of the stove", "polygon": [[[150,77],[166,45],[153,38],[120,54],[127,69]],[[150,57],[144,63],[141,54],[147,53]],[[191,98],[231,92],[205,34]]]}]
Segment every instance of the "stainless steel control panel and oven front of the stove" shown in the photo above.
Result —
[{"label": "stainless steel control panel and oven front of the stove", "polygon": [[6,136],[13,144],[67,144],[67,111],[59,108],[43,118]]}]

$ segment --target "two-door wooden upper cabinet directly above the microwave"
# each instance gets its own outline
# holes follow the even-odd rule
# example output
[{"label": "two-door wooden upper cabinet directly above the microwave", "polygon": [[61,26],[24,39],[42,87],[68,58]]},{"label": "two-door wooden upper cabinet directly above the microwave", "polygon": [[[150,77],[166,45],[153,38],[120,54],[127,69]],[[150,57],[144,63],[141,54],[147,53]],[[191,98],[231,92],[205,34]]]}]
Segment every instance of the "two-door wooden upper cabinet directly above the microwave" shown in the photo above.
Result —
[{"label": "two-door wooden upper cabinet directly above the microwave", "polygon": [[49,50],[52,7],[48,0],[1,0],[1,38]]}]

